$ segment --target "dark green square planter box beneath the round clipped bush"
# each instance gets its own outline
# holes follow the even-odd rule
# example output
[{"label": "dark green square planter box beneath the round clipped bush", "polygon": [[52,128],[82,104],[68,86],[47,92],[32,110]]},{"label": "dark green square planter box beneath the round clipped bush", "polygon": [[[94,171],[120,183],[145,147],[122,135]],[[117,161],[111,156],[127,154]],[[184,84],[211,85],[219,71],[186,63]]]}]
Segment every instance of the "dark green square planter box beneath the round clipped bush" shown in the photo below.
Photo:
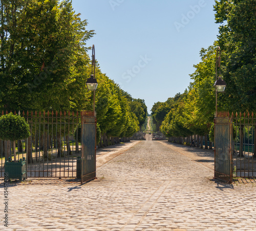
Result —
[{"label": "dark green square planter box beneath the round clipped bush", "polygon": [[8,179],[25,180],[27,177],[25,157],[19,161],[11,161],[9,157],[5,163],[5,173],[8,173]]}]

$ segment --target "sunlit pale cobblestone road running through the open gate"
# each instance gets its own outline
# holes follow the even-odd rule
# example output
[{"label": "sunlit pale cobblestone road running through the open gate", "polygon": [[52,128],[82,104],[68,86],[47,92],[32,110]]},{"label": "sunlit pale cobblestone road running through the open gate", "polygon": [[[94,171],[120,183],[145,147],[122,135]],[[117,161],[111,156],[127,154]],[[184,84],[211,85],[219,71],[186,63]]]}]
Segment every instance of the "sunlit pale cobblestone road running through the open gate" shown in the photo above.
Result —
[{"label": "sunlit pale cobblestone road running through the open gate", "polygon": [[255,184],[214,181],[212,169],[170,147],[142,141],[83,185],[9,187],[6,229],[256,230]]}]

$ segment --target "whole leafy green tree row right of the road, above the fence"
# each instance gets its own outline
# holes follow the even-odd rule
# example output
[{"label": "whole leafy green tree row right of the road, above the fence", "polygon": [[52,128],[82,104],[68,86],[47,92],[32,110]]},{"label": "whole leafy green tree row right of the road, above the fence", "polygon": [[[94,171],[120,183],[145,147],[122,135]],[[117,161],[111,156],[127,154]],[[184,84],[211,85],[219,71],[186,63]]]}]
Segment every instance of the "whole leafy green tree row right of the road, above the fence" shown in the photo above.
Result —
[{"label": "whole leafy green tree row right of the road, above the fence", "polygon": [[[202,141],[202,136],[210,133],[212,140],[218,46],[222,51],[221,75],[227,84],[225,92],[218,94],[218,110],[243,113],[256,109],[256,2],[221,0],[214,9],[220,24],[218,41],[201,49],[201,62],[194,65],[188,90],[152,108],[154,123],[168,137],[197,134]],[[198,136],[194,140],[198,141]]]}]

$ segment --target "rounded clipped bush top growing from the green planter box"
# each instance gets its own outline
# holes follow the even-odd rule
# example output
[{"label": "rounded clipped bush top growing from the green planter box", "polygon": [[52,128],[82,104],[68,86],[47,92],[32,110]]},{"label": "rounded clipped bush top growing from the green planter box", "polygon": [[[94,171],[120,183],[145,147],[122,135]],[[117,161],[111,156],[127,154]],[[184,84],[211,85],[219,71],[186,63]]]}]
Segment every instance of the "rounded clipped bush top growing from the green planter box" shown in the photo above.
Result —
[{"label": "rounded clipped bush top growing from the green planter box", "polygon": [[12,113],[0,117],[0,139],[5,141],[22,140],[30,136],[26,120]]}]

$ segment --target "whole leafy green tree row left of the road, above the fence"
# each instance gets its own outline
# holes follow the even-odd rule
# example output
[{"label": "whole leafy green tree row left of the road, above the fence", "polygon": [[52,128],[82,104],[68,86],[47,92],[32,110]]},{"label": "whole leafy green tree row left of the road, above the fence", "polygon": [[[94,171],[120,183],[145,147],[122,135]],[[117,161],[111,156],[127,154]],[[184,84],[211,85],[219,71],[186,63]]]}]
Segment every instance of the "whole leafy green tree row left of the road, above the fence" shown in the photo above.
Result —
[{"label": "whole leafy green tree row left of the road, above the fence", "polygon": [[[0,109],[92,110],[86,43],[95,33],[86,30],[72,1],[0,0],[0,8]],[[132,136],[146,120],[144,100],[124,92],[97,62],[95,77],[98,142]]]}]

